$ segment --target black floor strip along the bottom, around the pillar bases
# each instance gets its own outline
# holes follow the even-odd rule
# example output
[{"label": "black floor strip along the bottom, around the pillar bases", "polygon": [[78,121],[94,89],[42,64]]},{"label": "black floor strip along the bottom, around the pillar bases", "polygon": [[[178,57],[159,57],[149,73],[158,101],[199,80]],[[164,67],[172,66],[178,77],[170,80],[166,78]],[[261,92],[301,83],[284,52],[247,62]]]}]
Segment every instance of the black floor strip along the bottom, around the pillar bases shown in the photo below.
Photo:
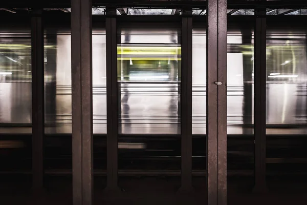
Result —
[{"label": "black floor strip along the bottom, around the pillar bases", "polygon": [[[306,177],[305,177],[306,178]],[[178,193],[179,177],[125,177],[119,179],[122,191],[104,191],[105,178],[94,178],[94,204],[170,205],[207,204],[204,177],[193,178],[191,193]],[[31,179],[15,177],[0,180],[0,204],[72,204],[72,181],[70,177],[49,177],[46,189],[35,196],[31,193]],[[253,180],[249,177],[228,179],[228,204],[307,204],[307,180],[296,178],[270,178],[268,191],[262,194],[252,192]]]}]

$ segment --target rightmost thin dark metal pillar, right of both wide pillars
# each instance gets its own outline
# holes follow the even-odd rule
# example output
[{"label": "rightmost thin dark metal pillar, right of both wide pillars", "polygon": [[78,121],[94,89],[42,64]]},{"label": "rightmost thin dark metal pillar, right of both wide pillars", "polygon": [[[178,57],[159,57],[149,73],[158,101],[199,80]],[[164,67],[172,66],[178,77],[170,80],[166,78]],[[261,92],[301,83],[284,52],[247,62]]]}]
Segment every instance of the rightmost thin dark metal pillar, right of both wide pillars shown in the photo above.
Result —
[{"label": "rightmost thin dark metal pillar, right of both wide pillars", "polygon": [[257,9],[254,49],[255,192],[266,190],[266,8]]}]

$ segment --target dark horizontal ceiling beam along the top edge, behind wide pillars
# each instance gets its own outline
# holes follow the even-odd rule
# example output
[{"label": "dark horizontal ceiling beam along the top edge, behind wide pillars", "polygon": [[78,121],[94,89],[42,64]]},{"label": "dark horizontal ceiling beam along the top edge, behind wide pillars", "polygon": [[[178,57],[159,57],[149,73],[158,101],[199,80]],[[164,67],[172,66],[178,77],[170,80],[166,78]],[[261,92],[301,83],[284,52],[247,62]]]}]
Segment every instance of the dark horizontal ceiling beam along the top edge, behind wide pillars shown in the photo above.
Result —
[{"label": "dark horizontal ceiling beam along the top edge, behind wide pillars", "polygon": [[[45,0],[39,4],[42,8],[69,8],[70,0]],[[124,3],[123,3],[124,2]],[[35,0],[10,0],[1,2],[4,8],[35,8],[37,1]],[[116,7],[157,7],[157,8],[182,8],[191,6],[193,8],[205,9],[205,1],[201,0],[92,0],[93,7],[116,6]],[[281,1],[246,1],[246,0],[229,0],[228,9],[255,9],[266,7],[271,9],[278,8],[306,8],[305,0],[281,0]]]}]

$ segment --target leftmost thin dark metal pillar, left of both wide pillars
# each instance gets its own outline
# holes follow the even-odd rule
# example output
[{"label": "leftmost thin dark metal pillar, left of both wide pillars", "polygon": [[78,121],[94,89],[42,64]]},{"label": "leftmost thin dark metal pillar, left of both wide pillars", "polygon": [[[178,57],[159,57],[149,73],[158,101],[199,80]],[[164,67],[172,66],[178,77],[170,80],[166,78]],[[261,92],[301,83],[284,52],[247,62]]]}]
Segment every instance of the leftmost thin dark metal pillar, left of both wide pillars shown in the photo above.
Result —
[{"label": "leftmost thin dark metal pillar, left of both wide pillars", "polygon": [[43,188],[43,137],[45,135],[42,9],[31,16],[32,63],[32,180],[35,192]]}]

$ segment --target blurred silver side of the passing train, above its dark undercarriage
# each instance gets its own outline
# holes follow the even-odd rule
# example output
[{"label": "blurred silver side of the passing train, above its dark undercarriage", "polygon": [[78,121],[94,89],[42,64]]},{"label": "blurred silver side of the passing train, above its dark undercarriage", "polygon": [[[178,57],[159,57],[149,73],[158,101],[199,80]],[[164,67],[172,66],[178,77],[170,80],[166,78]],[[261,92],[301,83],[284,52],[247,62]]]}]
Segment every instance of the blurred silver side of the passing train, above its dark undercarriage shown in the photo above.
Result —
[{"label": "blurred silver side of the passing train, above its dark undercarriage", "polygon": [[[119,30],[120,134],[180,134],[180,33],[176,29]],[[30,127],[30,34],[8,29],[0,33],[0,44],[0,123],[2,127]],[[136,47],[143,50],[136,50]],[[176,48],[172,51],[177,53],[171,53],[169,48]],[[253,48],[252,34],[247,36],[240,30],[229,31],[228,134],[253,132]],[[94,134],[106,133],[105,53],[104,31],[93,30]],[[306,65],[305,34],[289,35],[288,31],[268,33],[267,125],[302,127],[306,124]],[[46,133],[71,133],[71,72],[70,33],[60,29],[47,33]],[[192,72],[192,132],[206,134],[206,33],[202,29],[193,30]],[[31,133],[31,129],[10,132]],[[268,132],[285,133],[280,129]],[[305,130],[291,132],[302,134]]]}]

